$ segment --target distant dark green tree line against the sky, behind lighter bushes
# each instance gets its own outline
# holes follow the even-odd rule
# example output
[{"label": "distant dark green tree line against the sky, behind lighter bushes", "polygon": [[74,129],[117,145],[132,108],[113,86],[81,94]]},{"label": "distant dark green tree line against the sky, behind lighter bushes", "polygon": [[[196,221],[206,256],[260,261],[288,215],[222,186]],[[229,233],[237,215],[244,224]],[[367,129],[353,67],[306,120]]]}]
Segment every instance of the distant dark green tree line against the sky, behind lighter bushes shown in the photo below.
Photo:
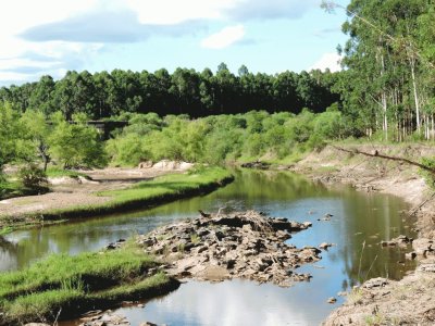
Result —
[{"label": "distant dark green tree line against the sky, behind lighter bushes", "polygon": [[92,120],[129,113],[188,114],[190,117],[235,114],[251,110],[321,112],[338,100],[331,91],[334,74],[284,72],[252,74],[246,66],[233,74],[222,63],[215,74],[177,68],[154,73],[114,70],[90,74],[67,72],[60,80],[42,76],[39,82],[3,87],[0,100],[21,112],[46,114],[61,110],[66,120],[85,113]]}]

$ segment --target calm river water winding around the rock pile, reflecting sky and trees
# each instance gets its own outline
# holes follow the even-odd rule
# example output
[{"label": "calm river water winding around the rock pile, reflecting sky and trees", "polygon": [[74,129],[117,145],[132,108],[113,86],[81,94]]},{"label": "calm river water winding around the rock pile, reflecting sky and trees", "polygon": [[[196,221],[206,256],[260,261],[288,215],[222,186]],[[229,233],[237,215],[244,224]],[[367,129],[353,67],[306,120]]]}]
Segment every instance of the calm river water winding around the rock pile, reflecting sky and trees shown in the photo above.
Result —
[{"label": "calm river water winding around the rock pile, reflecting sky and trees", "polygon": [[[312,222],[313,227],[295,234],[298,247],[336,243],[322,252],[322,260],[302,265],[310,283],[279,288],[246,280],[217,284],[188,281],[144,308],[123,308],[132,325],[150,321],[166,325],[319,325],[335,305],[326,303],[337,292],[371,277],[400,279],[413,269],[405,260],[409,249],[382,248],[381,240],[398,235],[415,237],[414,221],[401,213],[399,198],[357,192],[348,187],[333,190],[285,172],[238,172],[236,180],[204,197],[178,200],[142,212],[79,221],[64,225],[12,233],[0,240],[0,269],[23,268],[52,252],[76,254],[103,248],[179,218],[198,215],[198,209],[253,209],[271,216]],[[331,221],[322,221],[332,214]],[[319,221],[320,220],[320,221]]]}]

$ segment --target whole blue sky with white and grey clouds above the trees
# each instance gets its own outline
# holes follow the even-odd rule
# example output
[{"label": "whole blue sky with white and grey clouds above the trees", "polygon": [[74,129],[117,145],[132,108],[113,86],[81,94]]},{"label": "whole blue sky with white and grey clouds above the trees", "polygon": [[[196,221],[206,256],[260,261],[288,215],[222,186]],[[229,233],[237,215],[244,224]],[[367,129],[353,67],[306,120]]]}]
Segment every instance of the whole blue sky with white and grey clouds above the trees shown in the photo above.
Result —
[{"label": "whole blue sky with white and grey clouds above the trees", "polygon": [[[8,2],[8,4],[5,4]],[[346,13],[320,0],[3,0],[0,85],[42,75],[177,67],[339,70]],[[348,0],[335,1],[347,5]]]}]

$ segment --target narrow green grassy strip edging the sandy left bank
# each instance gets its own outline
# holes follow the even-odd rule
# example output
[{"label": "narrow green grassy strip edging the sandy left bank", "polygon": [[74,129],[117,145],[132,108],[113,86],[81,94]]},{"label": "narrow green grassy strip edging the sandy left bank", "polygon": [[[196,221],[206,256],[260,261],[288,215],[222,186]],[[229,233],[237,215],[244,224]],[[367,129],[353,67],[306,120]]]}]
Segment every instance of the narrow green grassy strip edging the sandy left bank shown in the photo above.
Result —
[{"label": "narrow green grassy strip edging the sandy left bank", "polygon": [[127,189],[97,193],[96,196],[111,198],[104,203],[67,206],[62,210],[28,213],[23,216],[1,216],[0,229],[145,209],[182,198],[204,195],[233,179],[233,175],[221,167],[196,168],[186,174],[166,175],[150,181],[141,181]]}]

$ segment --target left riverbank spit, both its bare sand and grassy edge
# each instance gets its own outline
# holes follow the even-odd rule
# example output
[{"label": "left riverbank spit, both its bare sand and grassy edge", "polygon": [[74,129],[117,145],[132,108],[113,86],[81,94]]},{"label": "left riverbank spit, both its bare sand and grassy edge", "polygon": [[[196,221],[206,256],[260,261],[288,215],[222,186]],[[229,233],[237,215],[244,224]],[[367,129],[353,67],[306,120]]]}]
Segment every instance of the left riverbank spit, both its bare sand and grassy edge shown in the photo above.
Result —
[{"label": "left riverbank spit, both its bare sand and grassy edge", "polygon": [[114,173],[113,170],[98,171],[91,174],[92,180],[79,185],[63,183],[51,193],[0,201],[0,229],[152,206],[207,193],[234,179],[229,172],[217,167],[163,176],[167,171],[135,172],[127,177],[125,173]]}]

